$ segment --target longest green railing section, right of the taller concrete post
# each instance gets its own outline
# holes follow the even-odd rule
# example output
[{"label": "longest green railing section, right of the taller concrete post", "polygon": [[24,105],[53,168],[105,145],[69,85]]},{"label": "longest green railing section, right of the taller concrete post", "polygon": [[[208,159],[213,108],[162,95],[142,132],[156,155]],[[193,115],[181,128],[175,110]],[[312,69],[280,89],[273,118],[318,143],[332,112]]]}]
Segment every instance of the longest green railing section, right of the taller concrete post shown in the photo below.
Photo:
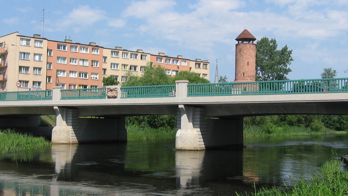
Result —
[{"label": "longest green railing section, right of the taller concrete post", "polygon": [[305,94],[348,92],[348,78],[188,84],[187,96]]}]

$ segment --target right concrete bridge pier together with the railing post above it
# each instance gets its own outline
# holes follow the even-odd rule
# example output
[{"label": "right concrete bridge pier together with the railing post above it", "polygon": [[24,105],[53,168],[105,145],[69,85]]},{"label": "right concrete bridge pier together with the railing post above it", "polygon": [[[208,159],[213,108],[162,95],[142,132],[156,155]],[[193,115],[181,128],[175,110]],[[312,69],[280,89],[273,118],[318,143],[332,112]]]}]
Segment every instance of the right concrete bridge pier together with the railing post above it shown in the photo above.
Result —
[{"label": "right concrete bridge pier together with the railing post above it", "polygon": [[[187,80],[176,81],[176,97],[187,97],[187,84]],[[177,150],[243,147],[243,117],[207,119],[203,106],[179,105],[177,130]]]}]

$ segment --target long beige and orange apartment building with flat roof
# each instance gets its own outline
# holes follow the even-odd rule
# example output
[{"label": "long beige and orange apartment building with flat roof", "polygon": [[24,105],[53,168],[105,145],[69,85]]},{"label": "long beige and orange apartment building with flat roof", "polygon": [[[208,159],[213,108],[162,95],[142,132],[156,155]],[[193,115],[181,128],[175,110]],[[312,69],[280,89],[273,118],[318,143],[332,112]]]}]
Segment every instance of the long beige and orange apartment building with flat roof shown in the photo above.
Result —
[{"label": "long beige and orange apartment building with flat roof", "polygon": [[181,55],[153,55],[122,47],[104,48],[94,42],[48,40],[39,34],[21,36],[18,32],[0,37],[0,92],[52,89],[97,88],[103,77],[113,76],[120,83],[127,73],[140,76],[148,62],[161,65],[167,75],[179,71],[196,72],[209,79],[209,61],[189,60]]}]

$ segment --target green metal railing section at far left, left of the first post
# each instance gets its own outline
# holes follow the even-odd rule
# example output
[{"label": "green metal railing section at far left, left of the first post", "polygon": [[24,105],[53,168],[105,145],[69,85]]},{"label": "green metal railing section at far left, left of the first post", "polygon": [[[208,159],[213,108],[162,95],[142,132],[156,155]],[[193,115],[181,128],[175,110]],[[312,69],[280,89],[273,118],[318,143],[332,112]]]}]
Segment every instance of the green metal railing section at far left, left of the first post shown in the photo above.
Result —
[{"label": "green metal railing section at far left, left of the first post", "polygon": [[0,101],[52,100],[52,90],[0,92]]}]

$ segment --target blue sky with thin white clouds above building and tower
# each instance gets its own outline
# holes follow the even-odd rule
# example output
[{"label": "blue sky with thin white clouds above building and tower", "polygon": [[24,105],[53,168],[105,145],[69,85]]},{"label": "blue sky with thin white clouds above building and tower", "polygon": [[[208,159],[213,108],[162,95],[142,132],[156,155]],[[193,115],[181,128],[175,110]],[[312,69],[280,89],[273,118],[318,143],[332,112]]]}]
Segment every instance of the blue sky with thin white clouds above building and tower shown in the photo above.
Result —
[{"label": "blue sky with thin white clouds above building and tower", "polygon": [[244,29],[292,50],[289,79],[321,78],[324,68],[348,78],[348,0],[0,0],[0,6],[0,36],[18,31],[209,60],[212,82],[216,60],[219,75],[235,79],[235,38]]}]

